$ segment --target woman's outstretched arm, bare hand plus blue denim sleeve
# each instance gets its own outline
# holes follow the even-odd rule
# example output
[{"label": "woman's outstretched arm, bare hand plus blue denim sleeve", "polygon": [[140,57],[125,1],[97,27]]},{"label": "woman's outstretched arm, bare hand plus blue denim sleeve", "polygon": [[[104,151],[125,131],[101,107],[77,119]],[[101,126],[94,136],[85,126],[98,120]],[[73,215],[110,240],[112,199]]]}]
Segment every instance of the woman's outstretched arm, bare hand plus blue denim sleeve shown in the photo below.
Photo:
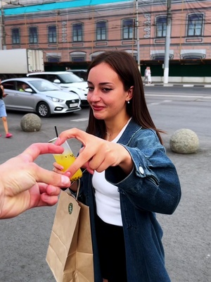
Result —
[{"label": "woman's outstretched arm, bare hand plus blue denim sleeve", "polygon": [[105,170],[106,180],[124,190],[137,208],[172,214],[181,197],[177,170],[153,130],[136,135],[128,147],[72,128],[60,133],[56,144],[75,137],[84,145],[68,168],[71,175],[80,167],[89,173]]}]

